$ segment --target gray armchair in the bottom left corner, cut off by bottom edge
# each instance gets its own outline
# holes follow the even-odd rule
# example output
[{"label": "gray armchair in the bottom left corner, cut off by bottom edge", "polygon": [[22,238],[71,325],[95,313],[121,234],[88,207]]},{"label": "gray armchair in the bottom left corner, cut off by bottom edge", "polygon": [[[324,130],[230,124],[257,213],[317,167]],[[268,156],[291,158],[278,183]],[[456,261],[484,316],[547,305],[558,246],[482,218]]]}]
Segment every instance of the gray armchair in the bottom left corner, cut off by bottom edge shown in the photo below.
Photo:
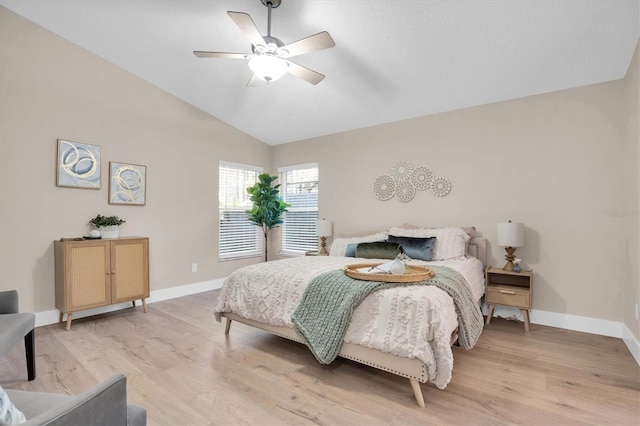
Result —
[{"label": "gray armchair in the bottom left corner, cut off by bottom edge", "polygon": [[127,378],[115,374],[79,395],[5,389],[31,425],[144,426],[147,410],[127,403]]}]

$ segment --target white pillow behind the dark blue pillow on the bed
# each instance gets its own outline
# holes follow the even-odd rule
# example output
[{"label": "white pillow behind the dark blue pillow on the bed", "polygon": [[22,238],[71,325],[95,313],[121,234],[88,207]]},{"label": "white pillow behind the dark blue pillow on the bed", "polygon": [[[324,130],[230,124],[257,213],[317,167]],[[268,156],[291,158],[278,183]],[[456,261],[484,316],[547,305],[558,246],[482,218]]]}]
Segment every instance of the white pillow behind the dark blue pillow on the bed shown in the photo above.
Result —
[{"label": "white pillow behind the dark blue pillow on the bed", "polygon": [[464,257],[467,252],[467,241],[471,238],[462,228],[407,229],[395,227],[389,230],[389,235],[418,238],[436,237],[433,260]]}]

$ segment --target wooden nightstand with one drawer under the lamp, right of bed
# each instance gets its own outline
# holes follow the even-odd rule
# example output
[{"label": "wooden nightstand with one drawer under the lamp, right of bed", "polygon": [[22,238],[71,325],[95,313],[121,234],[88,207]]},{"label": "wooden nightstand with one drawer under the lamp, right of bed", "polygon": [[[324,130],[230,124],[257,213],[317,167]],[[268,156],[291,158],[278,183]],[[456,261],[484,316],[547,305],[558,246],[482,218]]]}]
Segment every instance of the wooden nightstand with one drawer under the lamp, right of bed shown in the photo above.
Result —
[{"label": "wooden nightstand with one drawer under the lamp, right of bed", "polygon": [[487,324],[491,324],[495,305],[520,308],[524,329],[529,331],[529,310],[533,289],[533,271],[512,272],[489,266],[485,273],[484,301],[489,305]]}]

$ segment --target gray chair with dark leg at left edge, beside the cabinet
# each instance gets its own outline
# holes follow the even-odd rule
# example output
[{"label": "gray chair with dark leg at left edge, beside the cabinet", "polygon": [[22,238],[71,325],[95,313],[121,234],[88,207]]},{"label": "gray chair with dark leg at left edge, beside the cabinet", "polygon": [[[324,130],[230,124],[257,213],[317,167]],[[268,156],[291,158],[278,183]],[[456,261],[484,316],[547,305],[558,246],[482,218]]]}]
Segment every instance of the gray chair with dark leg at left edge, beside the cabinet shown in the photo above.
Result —
[{"label": "gray chair with dark leg at left edge, beside the cabinet", "polygon": [[24,338],[29,380],[36,378],[35,325],[34,314],[18,312],[17,291],[0,291],[0,356]]}]

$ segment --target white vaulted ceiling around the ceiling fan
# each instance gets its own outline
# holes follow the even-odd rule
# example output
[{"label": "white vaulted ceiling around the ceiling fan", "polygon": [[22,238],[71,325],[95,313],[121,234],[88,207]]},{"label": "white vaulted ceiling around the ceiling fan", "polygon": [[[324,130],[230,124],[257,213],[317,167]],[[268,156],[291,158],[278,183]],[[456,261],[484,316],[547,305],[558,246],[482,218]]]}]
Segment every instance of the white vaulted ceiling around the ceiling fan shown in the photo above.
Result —
[{"label": "white vaulted ceiling around the ceiling fan", "polygon": [[0,4],[255,138],[277,145],[624,77],[640,0],[282,0],[273,36],[320,31],[294,58],[327,77],[246,87],[250,52],[226,14],[260,0],[0,0]]}]

